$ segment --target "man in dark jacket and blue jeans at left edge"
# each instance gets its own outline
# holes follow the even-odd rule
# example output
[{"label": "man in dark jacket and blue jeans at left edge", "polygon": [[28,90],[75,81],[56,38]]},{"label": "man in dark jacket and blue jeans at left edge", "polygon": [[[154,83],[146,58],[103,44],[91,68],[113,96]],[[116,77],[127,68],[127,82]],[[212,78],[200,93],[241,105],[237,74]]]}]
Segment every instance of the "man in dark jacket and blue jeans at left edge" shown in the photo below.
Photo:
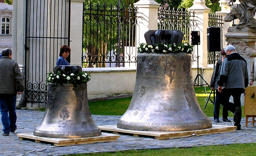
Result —
[{"label": "man in dark jacket and blue jeans at left edge", "polygon": [[16,126],[16,94],[24,90],[23,76],[19,65],[12,60],[12,50],[4,49],[0,58],[0,110],[3,124],[3,136],[14,133]]}]

